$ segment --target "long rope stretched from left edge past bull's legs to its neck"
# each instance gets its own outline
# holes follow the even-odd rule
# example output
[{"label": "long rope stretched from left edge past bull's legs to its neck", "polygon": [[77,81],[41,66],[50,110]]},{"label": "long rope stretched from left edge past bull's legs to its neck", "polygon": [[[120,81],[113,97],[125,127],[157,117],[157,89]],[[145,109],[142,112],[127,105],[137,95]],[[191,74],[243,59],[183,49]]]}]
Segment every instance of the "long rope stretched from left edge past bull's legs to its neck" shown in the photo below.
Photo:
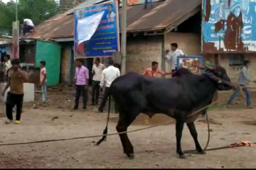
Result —
[{"label": "long rope stretched from left edge past bull's legs to its neck", "polygon": [[[215,103],[217,103],[217,101],[199,109],[198,111],[193,112],[192,114],[190,114],[188,117],[193,116],[194,114],[197,114],[198,112],[214,105]],[[34,141],[34,142],[21,142],[21,143],[14,143],[14,144],[0,144],[0,147],[3,146],[14,146],[14,145],[25,145],[25,144],[39,144],[39,143],[47,143],[47,142],[57,142],[57,141],[71,141],[71,140],[77,140],[77,139],[87,139],[87,138],[99,138],[99,137],[104,137],[104,136],[113,136],[113,135],[121,135],[121,134],[126,134],[126,133],[132,133],[132,132],[138,132],[138,131],[142,131],[142,130],[146,130],[146,129],[151,129],[157,126],[162,126],[168,123],[171,123],[172,120],[164,122],[164,123],[160,123],[157,125],[152,125],[152,126],[148,126],[145,128],[140,128],[140,129],[136,129],[136,130],[131,130],[131,131],[126,131],[126,132],[120,132],[120,133],[111,133],[111,134],[106,134],[106,135],[93,135],[93,136],[85,136],[85,137],[78,137],[78,138],[66,138],[66,139],[53,139],[53,140],[45,140],[45,141]],[[209,123],[209,122],[208,122]],[[210,132],[209,130],[209,125],[208,125],[208,132]],[[210,137],[210,135],[208,135],[208,137]],[[208,143],[209,143],[210,139],[208,139]]]}]

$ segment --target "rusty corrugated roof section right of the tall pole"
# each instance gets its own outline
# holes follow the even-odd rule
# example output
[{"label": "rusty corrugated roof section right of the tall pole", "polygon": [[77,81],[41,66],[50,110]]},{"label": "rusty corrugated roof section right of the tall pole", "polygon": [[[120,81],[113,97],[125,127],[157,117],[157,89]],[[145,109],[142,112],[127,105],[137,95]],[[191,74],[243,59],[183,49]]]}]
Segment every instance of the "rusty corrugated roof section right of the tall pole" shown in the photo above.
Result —
[{"label": "rusty corrugated roof section right of the tall pole", "polygon": [[[153,9],[135,5],[127,11],[127,31],[164,29],[195,9],[202,0],[166,0],[154,3]],[[121,18],[120,10],[120,18]]]}]

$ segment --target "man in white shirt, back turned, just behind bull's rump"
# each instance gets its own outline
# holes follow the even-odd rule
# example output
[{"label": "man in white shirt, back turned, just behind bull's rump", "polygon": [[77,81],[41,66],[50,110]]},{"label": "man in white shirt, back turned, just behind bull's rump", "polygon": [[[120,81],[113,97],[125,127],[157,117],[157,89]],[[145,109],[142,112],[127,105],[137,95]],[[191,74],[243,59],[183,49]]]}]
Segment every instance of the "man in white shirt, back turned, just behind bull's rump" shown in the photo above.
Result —
[{"label": "man in white shirt, back turned, just behind bull's rump", "polygon": [[108,65],[108,68],[102,71],[102,77],[100,81],[100,88],[102,88],[105,84],[105,92],[100,107],[98,109],[99,112],[103,112],[103,108],[106,105],[108,97],[111,95],[110,86],[112,82],[120,76],[120,70],[117,67],[114,67],[113,60],[109,60]]}]

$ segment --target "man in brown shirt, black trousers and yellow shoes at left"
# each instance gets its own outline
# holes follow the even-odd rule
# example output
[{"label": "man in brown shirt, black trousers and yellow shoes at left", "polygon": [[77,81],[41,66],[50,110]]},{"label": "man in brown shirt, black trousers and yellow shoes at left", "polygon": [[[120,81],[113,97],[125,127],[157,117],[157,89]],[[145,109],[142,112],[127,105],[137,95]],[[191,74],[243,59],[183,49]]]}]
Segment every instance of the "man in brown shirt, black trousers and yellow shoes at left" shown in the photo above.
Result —
[{"label": "man in brown shirt, black trousers and yellow shoes at left", "polygon": [[28,82],[29,77],[26,72],[19,68],[20,60],[12,60],[12,70],[9,71],[9,79],[6,87],[3,90],[2,95],[4,96],[5,91],[10,88],[6,97],[6,115],[8,120],[6,124],[13,121],[12,108],[16,105],[16,121],[15,124],[20,124],[21,113],[22,113],[22,103],[24,97],[23,83]]}]

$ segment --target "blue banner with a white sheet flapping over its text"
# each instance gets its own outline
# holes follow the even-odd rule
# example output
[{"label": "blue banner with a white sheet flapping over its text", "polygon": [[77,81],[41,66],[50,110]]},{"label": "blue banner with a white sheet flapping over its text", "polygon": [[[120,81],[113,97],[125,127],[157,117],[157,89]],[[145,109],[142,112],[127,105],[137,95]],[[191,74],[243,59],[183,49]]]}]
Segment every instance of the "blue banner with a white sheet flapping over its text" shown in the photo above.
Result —
[{"label": "blue banner with a white sheet flapping over its text", "polygon": [[74,12],[74,57],[111,57],[120,52],[117,1],[87,6]]}]

